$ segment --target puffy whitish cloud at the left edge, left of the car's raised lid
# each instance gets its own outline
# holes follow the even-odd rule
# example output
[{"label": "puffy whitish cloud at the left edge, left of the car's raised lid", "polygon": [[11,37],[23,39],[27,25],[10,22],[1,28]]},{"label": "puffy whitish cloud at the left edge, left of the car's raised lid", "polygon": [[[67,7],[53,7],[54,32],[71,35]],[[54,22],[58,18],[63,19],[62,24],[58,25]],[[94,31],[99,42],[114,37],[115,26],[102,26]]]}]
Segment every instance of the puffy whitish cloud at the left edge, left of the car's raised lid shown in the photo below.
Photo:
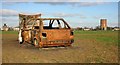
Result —
[{"label": "puffy whitish cloud at the left edge, left of the car's raised lid", "polygon": [[15,10],[10,10],[10,9],[1,9],[0,15],[2,15],[2,16],[17,16],[18,12]]}]

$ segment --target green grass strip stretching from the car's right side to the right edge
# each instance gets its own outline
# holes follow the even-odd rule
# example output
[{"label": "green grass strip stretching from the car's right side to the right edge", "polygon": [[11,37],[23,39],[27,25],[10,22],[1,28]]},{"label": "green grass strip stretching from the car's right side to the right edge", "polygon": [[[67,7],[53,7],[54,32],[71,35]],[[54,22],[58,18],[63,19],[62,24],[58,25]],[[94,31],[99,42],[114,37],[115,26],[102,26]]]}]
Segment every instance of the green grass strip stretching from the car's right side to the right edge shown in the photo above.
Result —
[{"label": "green grass strip stretching from the car's right side to the right edge", "polygon": [[[106,45],[118,45],[118,31],[74,31],[75,39],[89,39]],[[119,44],[120,45],[120,44]]]}]

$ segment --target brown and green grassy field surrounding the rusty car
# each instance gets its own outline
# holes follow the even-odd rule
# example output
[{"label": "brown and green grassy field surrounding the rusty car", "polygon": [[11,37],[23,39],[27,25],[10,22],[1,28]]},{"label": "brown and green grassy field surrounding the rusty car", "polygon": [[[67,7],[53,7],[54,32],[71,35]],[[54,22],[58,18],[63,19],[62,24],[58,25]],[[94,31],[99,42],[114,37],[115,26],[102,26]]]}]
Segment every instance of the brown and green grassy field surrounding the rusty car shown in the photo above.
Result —
[{"label": "brown and green grassy field surrounding the rusty car", "polygon": [[18,43],[18,32],[2,32],[3,63],[117,63],[118,31],[74,31],[67,48],[38,49]]}]

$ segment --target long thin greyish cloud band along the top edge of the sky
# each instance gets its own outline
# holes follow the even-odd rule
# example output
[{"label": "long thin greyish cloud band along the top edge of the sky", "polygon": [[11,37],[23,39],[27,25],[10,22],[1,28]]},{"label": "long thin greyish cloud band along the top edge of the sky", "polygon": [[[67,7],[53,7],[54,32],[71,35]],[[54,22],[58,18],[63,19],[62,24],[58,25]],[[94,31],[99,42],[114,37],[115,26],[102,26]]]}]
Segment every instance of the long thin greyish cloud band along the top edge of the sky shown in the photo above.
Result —
[{"label": "long thin greyish cloud band along the top edge of the sky", "polygon": [[101,4],[107,4],[110,2],[104,2],[103,0],[95,1],[81,1],[81,0],[4,0],[3,5],[11,5],[18,3],[34,3],[34,4],[50,4],[50,5],[72,5],[72,6],[95,6]]}]

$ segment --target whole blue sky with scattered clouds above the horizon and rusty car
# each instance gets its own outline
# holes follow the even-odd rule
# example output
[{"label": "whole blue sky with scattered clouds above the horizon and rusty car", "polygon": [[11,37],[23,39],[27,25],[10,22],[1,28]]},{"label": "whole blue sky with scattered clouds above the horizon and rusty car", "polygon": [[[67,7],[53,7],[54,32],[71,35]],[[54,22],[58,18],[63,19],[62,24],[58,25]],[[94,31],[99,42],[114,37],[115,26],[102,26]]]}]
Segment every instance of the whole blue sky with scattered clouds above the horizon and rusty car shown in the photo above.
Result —
[{"label": "whole blue sky with scattered clouds above the horizon and rusty car", "polygon": [[[60,2],[59,2],[60,1]],[[85,0],[84,0],[85,1]],[[100,1],[100,2],[99,2]],[[107,19],[108,26],[118,26],[118,0],[4,0],[0,3],[2,25],[18,26],[19,13],[41,13],[42,17],[64,18],[71,27],[96,27],[100,19]],[[1,22],[1,21],[0,21]],[[0,27],[2,26],[0,25]]]}]

